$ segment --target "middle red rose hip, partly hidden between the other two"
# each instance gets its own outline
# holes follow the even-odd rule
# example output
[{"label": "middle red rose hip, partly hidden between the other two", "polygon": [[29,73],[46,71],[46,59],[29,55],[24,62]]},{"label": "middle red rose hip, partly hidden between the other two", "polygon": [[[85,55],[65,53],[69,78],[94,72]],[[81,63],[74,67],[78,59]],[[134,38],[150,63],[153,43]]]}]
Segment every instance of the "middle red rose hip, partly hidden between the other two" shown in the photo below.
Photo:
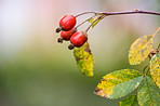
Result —
[{"label": "middle red rose hip, partly hidden between the other two", "polygon": [[63,38],[63,40],[70,40],[70,37],[76,32],[76,29],[71,29],[69,31],[64,31],[62,30],[61,32],[61,37]]}]

